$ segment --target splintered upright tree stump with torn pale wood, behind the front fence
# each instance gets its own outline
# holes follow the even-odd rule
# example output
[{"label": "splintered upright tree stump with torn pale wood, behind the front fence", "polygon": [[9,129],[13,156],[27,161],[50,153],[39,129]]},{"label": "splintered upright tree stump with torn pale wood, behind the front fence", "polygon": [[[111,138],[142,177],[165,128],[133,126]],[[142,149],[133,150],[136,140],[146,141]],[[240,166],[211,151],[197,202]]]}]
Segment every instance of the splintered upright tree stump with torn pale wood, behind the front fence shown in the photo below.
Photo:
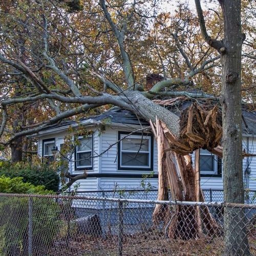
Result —
[{"label": "splintered upright tree stump with torn pale wood, behind the front fence", "polygon": [[[191,113],[190,108],[190,120]],[[206,121],[209,122],[209,118]],[[199,201],[200,199],[204,201],[197,180],[198,174],[193,167],[191,156],[169,151],[169,146],[172,146],[169,140],[172,138],[172,134],[166,130],[165,125],[160,120],[157,120],[155,125],[151,123],[151,126],[158,142],[158,200],[166,200],[169,186],[172,200]],[[189,134],[191,134],[191,130],[193,131],[188,125]],[[199,165],[199,158],[197,161],[196,165]],[[199,167],[197,169],[199,170]],[[174,239],[189,240],[200,237],[202,224],[205,225],[209,233],[221,232],[219,225],[212,218],[206,206],[175,205],[169,207],[168,205],[156,205],[153,223],[157,225],[160,222],[167,223],[168,237]]]}]

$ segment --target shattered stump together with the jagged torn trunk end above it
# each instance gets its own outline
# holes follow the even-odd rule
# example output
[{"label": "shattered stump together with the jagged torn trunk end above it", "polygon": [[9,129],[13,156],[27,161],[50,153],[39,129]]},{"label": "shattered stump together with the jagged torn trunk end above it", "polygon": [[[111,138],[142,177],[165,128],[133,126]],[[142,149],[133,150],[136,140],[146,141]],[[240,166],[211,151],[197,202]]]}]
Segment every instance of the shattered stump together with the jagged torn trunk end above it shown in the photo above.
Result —
[{"label": "shattered stump together with the jagged torn trunk end above it", "polygon": [[[187,99],[184,98],[155,102],[173,110],[177,101],[181,110],[179,140],[175,139],[163,121],[157,119],[156,123],[151,122],[158,145],[158,200],[169,200],[168,188],[170,188],[174,201],[204,202],[199,181],[200,153],[197,149],[207,148],[222,157],[221,109],[216,102],[212,104],[209,100],[200,105],[191,101],[186,104]],[[189,155],[194,150],[197,150],[195,167]],[[253,155],[244,152],[243,156]],[[153,222],[157,225],[162,221],[168,226],[170,238],[196,239],[202,234],[202,225],[211,235],[219,236],[223,233],[206,206],[201,207],[200,210],[200,207],[177,205],[175,209],[170,210],[168,205],[156,205]]]}]

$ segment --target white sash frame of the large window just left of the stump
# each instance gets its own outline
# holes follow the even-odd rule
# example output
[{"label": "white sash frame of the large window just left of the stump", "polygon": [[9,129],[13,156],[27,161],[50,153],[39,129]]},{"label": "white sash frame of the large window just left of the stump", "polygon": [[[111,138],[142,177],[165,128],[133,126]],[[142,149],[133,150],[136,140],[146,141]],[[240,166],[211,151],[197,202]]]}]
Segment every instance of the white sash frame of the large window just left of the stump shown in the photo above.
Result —
[{"label": "white sash frame of the large window just left of the stump", "polygon": [[[120,139],[122,139],[123,137],[125,137],[125,134],[120,134]],[[148,151],[128,151],[128,150],[122,150],[122,140],[120,141],[120,168],[132,168],[132,169],[136,169],[136,168],[143,168],[143,169],[149,169],[151,168],[151,136],[147,136],[147,135],[130,135],[128,137],[125,137],[127,139],[131,138],[131,139],[148,139]],[[122,165],[122,153],[147,153],[148,154],[148,165],[147,166],[141,166],[141,165]]]}]

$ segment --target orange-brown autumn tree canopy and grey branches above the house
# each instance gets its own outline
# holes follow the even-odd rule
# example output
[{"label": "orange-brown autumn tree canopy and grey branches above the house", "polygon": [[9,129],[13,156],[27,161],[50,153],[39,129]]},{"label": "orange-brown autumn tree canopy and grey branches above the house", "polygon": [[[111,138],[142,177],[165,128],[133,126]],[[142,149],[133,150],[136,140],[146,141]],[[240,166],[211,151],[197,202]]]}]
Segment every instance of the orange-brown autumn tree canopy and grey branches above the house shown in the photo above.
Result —
[{"label": "orange-brown autumn tree canopy and grey branches above the house", "polygon": [[[167,12],[163,6],[116,0],[2,3],[2,144],[12,145],[18,138],[24,142],[25,136],[62,119],[79,119],[112,106],[154,121],[155,113],[136,105],[136,97],[147,104],[165,96],[219,97],[220,56],[204,41],[195,8],[181,2]],[[254,102],[255,10],[250,1],[243,1],[242,13],[248,34],[243,96]],[[222,38],[220,6],[205,10],[204,16],[211,37]],[[150,74],[162,78],[147,88]],[[157,108],[164,113],[162,106]],[[177,127],[171,130],[178,136]],[[32,146],[23,146],[23,151]]]}]

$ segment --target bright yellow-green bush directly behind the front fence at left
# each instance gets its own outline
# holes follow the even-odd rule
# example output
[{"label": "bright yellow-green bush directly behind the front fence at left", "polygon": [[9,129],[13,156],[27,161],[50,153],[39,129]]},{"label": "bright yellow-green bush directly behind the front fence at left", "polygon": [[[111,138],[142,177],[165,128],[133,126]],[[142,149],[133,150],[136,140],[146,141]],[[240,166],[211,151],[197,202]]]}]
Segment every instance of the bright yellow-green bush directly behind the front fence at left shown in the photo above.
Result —
[{"label": "bright yellow-green bush directly behind the front fence at left", "polygon": [[[0,193],[49,194],[44,186],[24,183],[22,177],[0,177]],[[29,211],[30,209],[30,211]],[[29,214],[32,213],[32,214]],[[60,206],[52,198],[0,197],[0,255],[28,255],[29,216],[33,255],[47,255],[61,226]]]}]

